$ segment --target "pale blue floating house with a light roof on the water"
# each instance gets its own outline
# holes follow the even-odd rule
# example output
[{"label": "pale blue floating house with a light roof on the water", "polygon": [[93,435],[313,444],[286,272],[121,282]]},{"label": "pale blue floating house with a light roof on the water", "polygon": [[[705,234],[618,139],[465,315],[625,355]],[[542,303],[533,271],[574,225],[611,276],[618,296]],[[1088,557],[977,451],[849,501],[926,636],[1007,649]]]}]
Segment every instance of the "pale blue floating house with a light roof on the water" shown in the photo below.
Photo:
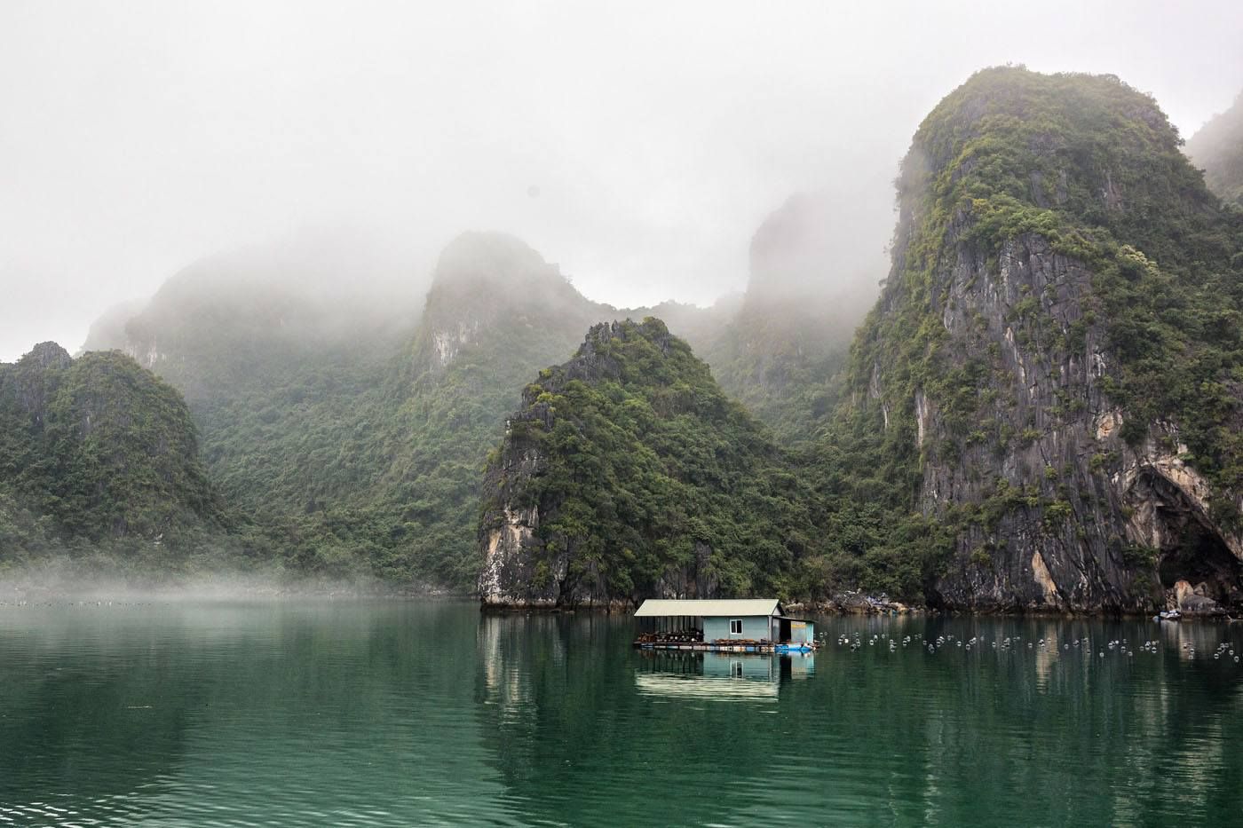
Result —
[{"label": "pale blue floating house with a light roof on the water", "polygon": [[635,646],[663,650],[773,653],[814,649],[815,627],[789,618],[776,598],[649,599],[634,613]]}]

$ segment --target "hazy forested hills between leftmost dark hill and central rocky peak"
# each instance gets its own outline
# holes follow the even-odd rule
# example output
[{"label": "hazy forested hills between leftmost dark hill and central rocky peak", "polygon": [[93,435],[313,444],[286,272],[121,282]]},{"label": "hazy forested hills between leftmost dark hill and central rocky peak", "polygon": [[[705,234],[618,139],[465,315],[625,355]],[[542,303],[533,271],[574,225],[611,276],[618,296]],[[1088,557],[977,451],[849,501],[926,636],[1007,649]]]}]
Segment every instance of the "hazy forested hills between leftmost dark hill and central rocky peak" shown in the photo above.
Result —
[{"label": "hazy forested hills between leftmost dark hill and central rocky peak", "polygon": [[[393,287],[333,292],[329,265],[287,259],[200,262],[109,312],[87,347],[123,348],[186,394],[251,557],[472,588],[496,429],[531,372],[619,312],[502,234],[447,245],[418,305]],[[705,337],[725,321],[663,307]]]}]

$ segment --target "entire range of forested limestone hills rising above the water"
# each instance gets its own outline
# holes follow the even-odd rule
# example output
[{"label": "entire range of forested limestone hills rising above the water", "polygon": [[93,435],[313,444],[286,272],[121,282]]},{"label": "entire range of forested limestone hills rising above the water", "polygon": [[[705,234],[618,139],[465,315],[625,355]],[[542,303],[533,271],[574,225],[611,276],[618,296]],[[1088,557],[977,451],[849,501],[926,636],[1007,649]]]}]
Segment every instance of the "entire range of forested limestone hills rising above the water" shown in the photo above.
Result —
[{"label": "entire range of forested limestone hills rising above the water", "polygon": [[1016,67],[947,96],[856,331],[874,274],[838,255],[838,201],[791,199],[743,297],[664,322],[501,234],[452,241],[426,291],[331,256],[205,260],[92,328],[128,357],[0,368],[0,531],[25,557],[210,536],[497,603],[1243,602],[1243,213],[1150,97]]}]

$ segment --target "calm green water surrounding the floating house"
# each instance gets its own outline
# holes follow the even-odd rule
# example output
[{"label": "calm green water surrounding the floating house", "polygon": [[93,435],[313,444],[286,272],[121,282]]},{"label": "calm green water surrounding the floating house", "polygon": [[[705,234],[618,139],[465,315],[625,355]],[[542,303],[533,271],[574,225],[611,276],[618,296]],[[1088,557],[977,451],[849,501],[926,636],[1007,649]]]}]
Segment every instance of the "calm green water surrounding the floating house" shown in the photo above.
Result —
[{"label": "calm green water surrounding the floating house", "polygon": [[1241,624],[818,629],[680,659],[469,604],[0,605],[0,826],[1243,824]]}]

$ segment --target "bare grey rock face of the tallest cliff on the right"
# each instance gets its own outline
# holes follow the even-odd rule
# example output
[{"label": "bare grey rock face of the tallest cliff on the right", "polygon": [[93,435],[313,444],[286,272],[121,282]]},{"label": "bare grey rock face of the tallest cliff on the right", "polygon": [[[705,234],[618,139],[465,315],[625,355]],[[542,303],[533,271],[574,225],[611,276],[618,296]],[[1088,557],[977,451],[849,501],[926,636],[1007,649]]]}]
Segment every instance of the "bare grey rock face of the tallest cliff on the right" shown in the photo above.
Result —
[{"label": "bare grey rock face of the tallest cliff on the right", "polygon": [[[996,431],[977,429],[956,446],[935,395],[916,390],[920,505],[996,513],[967,522],[933,598],[1137,610],[1185,579],[1222,603],[1243,598],[1243,536],[1214,518],[1213,489],[1182,459],[1177,424],[1147,424],[1135,445],[1121,436],[1126,413],[1108,393],[1116,357],[1106,326],[1085,320],[1091,269],[1033,234],[1007,241],[992,270],[970,247],[958,251],[941,322],[966,359],[987,354],[987,402],[975,416]],[[878,397],[883,382],[878,373]]]}]

